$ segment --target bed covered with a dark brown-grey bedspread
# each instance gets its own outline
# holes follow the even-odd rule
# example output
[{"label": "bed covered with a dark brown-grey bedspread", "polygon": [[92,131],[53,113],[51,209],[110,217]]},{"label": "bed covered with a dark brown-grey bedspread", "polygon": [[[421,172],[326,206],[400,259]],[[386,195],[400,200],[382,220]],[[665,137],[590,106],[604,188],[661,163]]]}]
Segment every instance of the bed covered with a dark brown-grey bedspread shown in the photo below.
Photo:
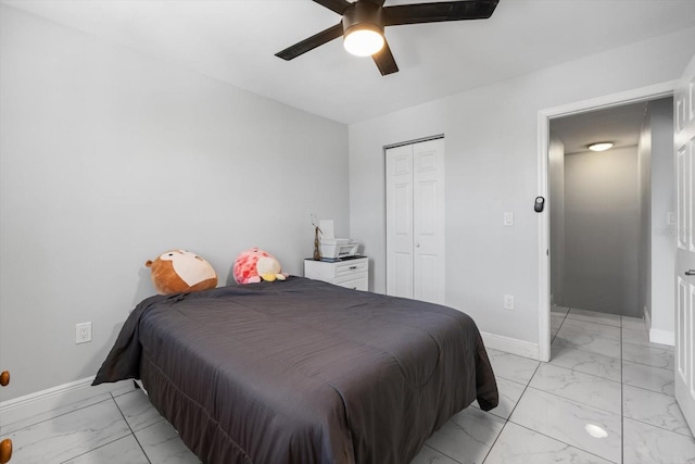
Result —
[{"label": "bed covered with a dark brown-grey bedspread", "polygon": [[302,277],[142,301],[93,385],[128,378],[208,464],[405,464],[497,405],[468,315]]}]

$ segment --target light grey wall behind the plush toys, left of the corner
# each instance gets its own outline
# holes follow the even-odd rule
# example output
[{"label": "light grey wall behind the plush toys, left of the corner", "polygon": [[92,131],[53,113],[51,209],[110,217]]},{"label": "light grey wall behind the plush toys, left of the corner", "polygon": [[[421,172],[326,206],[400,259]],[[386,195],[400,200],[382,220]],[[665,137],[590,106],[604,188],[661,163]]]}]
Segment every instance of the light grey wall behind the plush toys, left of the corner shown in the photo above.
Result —
[{"label": "light grey wall behind the plush toys, left of the corner", "polygon": [[161,252],[224,285],[253,246],[301,274],[311,213],[348,235],[345,125],[5,5],[0,101],[2,400],[94,375]]}]

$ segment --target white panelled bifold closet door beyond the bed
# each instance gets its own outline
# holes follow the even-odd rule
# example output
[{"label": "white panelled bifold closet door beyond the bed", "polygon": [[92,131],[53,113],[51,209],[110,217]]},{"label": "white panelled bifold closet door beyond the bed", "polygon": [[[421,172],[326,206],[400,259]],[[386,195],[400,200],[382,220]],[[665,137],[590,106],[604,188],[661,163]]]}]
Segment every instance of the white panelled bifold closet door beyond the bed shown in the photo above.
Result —
[{"label": "white panelled bifold closet door beyond the bed", "polygon": [[444,139],[387,150],[387,294],[444,302]]}]

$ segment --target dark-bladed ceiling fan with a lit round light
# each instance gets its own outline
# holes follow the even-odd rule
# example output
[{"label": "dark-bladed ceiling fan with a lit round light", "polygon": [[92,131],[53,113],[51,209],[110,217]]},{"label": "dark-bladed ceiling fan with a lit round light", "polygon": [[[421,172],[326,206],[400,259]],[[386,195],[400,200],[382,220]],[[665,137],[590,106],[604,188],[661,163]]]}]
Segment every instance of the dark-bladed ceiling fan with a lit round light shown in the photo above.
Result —
[{"label": "dark-bladed ceiling fan with a lit round light", "polygon": [[275,55],[289,61],[343,36],[343,46],[349,52],[359,57],[371,55],[381,75],[386,76],[399,71],[383,35],[386,26],[443,21],[486,20],[495,11],[500,0],[460,0],[393,7],[384,7],[386,0],[357,0],[355,2],[348,0],[314,1],[342,15],[342,21]]}]

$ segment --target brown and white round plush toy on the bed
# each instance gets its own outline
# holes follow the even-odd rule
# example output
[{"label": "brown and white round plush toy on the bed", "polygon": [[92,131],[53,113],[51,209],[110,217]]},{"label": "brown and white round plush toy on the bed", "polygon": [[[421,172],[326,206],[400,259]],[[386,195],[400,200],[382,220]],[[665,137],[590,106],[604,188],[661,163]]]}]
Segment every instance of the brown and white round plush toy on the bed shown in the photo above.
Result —
[{"label": "brown and white round plush toy on the bed", "polygon": [[172,250],[144,263],[160,294],[201,291],[217,287],[217,274],[210,263],[186,250]]}]

